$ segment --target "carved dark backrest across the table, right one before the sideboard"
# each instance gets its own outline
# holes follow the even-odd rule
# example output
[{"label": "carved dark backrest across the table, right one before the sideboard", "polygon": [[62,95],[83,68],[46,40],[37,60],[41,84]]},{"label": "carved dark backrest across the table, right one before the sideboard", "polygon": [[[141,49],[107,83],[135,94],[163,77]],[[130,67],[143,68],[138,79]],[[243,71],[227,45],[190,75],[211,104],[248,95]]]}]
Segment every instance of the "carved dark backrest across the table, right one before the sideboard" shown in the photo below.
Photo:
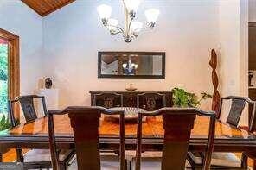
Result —
[{"label": "carved dark backrest across the table, right one before the sideboard", "polygon": [[165,94],[156,92],[138,94],[137,107],[149,111],[166,107]]}]

